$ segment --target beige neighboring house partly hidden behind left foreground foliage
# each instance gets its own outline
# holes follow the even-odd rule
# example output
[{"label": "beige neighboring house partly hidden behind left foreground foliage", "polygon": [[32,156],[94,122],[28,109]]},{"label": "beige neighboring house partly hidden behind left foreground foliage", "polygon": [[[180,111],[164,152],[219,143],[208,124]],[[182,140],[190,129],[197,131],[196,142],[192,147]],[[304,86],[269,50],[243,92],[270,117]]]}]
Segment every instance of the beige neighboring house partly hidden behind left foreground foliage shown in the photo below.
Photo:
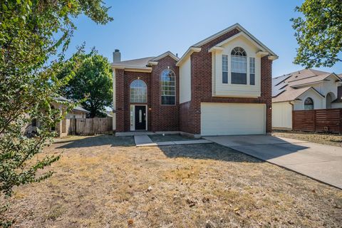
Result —
[{"label": "beige neighboring house partly hidden behind left foreground foliage", "polygon": [[[63,105],[61,102],[70,102],[67,98],[64,98],[63,96],[59,95],[56,98],[56,102],[51,103],[51,108],[59,109],[62,111],[66,110],[66,106]],[[84,109],[80,105],[73,108],[73,110],[69,113],[66,113],[66,118],[64,118],[61,122],[56,123],[56,126],[54,128],[51,128],[51,130],[56,131],[58,137],[63,137],[68,135],[68,129],[70,125],[70,119],[73,118],[87,118],[87,115],[90,113],[90,111]],[[26,128],[26,133],[35,133],[36,128],[39,127],[40,123],[34,122],[31,123],[28,128]]]}]

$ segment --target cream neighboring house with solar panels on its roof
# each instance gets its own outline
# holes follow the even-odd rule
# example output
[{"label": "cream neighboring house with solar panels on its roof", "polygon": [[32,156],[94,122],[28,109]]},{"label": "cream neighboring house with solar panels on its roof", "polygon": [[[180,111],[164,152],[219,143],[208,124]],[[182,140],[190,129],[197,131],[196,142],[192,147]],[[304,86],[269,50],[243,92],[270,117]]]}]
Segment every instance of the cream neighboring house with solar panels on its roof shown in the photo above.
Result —
[{"label": "cream neighboring house with solar panels on its roof", "polygon": [[292,129],[292,110],[342,108],[342,81],[335,73],[304,69],[273,78],[272,126]]}]

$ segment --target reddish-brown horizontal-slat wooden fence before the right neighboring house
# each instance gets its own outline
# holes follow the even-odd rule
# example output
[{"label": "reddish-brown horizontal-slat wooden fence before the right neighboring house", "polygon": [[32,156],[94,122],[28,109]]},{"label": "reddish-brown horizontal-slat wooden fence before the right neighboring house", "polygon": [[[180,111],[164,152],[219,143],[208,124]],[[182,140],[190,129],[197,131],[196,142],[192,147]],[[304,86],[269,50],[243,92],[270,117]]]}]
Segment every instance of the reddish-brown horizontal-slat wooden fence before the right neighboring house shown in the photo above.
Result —
[{"label": "reddish-brown horizontal-slat wooden fence before the right neighboring house", "polygon": [[294,130],[342,133],[342,108],[292,111]]}]

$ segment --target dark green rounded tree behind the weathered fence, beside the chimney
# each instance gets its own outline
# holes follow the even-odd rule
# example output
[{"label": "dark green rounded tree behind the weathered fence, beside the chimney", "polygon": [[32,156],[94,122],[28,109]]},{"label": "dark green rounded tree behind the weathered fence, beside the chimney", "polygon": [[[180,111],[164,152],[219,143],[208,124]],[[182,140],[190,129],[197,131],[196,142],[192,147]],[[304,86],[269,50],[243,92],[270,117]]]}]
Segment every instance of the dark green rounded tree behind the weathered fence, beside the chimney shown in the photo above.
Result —
[{"label": "dark green rounded tree behind the weathered fence, beside the chimney", "polygon": [[58,78],[66,78],[74,66],[75,76],[62,87],[62,94],[71,100],[81,101],[90,111],[90,117],[103,115],[105,106],[112,105],[112,70],[107,58],[98,54],[95,48],[85,53],[84,46],[65,65]]}]

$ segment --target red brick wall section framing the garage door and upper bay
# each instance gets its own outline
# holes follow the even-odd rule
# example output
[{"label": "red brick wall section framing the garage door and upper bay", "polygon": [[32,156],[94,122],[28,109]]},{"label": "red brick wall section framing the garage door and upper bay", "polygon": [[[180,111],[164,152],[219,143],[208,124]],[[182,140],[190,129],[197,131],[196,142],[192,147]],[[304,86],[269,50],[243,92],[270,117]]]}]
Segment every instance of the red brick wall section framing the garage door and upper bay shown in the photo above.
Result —
[{"label": "red brick wall section framing the garage door and upper bay", "polygon": [[[201,102],[218,103],[266,103],[266,132],[271,132],[271,65],[267,57],[261,59],[261,97],[260,98],[217,98],[212,97],[212,53],[209,48],[239,33],[237,29],[224,33],[209,43],[205,43],[198,53],[191,55],[191,102],[189,111],[181,108],[180,130],[200,134]],[[184,109],[184,110],[183,110]],[[183,115],[184,113],[184,115]],[[186,115],[187,114],[187,115]]]}]

